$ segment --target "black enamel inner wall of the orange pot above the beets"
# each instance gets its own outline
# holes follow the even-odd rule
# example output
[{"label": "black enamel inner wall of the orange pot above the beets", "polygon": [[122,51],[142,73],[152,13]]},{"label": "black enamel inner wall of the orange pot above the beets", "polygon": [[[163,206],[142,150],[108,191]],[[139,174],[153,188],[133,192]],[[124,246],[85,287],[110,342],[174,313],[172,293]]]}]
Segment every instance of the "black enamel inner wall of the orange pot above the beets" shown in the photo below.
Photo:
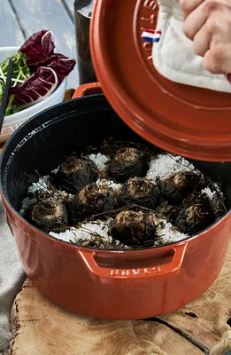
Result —
[{"label": "black enamel inner wall of the orange pot above the beets", "polygon": [[[81,146],[96,146],[108,136],[125,141],[141,140],[119,119],[104,94],[73,99],[37,114],[12,135],[1,154],[1,188],[6,200],[13,209],[19,209],[27,193],[20,180],[21,172],[38,170],[41,175],[49,174],[73,151],[80,150]],[[193,163],[214,181],[222,181],[229,209],[231,163]]]}]

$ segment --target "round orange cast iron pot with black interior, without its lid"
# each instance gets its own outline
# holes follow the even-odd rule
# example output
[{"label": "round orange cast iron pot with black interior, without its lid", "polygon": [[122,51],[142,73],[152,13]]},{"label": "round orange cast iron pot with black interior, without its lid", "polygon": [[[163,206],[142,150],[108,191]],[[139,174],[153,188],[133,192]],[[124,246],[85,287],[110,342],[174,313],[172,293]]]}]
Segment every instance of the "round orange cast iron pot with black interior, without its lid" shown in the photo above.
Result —
[{"label": "round orange cast iron pot with black interior, without its lid", "polygon": [[[140,138],[122,122],[103,94],[50,107],[24,123],[4,146],[1,190],[9,225],[28,278],[42,294],[73,312],[101,319],[143,319],[173,311],[201,295],[217,278],[231,235],[230,211],[187,240],[159,248],[109,251],[58,241],[19,216],[27,188],[21,173],[42,175],[81,146],[106,136]],[[231,164],[194,162],[222,178],[231,206]]]}]

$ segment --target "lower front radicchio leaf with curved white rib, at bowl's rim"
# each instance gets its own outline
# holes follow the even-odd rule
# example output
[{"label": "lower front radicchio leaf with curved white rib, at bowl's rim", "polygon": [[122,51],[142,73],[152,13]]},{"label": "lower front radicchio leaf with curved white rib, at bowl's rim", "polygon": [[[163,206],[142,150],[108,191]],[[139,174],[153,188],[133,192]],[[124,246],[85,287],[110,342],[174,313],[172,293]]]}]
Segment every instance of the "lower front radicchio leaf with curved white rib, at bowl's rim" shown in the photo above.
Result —
[{"label": "lower front radicchio leaf with curved white rib, at bowl's rim", "polygon": [[58,86],[58,75],[51,67],[39,67],[25,83],[11,88],[10,95],[15,95],[13,104],[23,106],[34,105],[50,96]]}]

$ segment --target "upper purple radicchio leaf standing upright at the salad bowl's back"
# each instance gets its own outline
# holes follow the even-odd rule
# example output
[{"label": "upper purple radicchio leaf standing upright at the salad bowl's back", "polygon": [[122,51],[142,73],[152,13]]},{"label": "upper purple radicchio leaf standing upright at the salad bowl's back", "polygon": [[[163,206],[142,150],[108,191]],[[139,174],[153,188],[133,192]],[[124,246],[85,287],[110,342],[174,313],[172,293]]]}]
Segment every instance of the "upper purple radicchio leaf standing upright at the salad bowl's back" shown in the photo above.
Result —
[{"label": "upper purple radicchio leaf standing upright at the salad bowl's back", "polygon": [[43,65],[55,49],[55,39],[51,31],[43,29],[30,36],[19,51],[27,57],[27,66]]}]

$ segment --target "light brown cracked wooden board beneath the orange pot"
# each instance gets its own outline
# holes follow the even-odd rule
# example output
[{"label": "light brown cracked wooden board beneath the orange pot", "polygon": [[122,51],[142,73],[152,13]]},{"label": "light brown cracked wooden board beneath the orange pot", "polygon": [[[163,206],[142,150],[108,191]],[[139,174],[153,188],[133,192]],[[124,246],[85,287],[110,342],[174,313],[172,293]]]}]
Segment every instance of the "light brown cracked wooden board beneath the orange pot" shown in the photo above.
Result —
[{"label": "light brown cracked wooden board beneath the orange pot", "polygon": [[176,312],[135,321],[66,312],[26,280],[12,307],[6,354],[224,355],[231,349],[230,268],[231,244],[219,278],[203,296]]}]

